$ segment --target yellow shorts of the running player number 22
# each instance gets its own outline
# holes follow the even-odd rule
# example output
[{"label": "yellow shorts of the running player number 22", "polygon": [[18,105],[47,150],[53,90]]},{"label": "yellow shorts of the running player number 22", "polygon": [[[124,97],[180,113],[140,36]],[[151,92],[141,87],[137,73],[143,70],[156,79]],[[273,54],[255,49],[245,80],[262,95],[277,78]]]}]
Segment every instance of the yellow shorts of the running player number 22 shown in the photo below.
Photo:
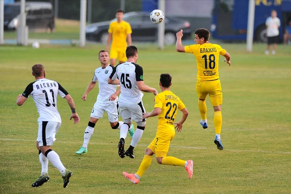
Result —
[{"label": "yellow shorts of the running player number 22", "polygon": [[147,148],[152,150],[156,157],[166,157],[167,153],[169,151],[170,142],[175,137],[175,129],[171,131],[166,132],[157,132],[156,137],[153,139],[153,141],[150,143]]}]

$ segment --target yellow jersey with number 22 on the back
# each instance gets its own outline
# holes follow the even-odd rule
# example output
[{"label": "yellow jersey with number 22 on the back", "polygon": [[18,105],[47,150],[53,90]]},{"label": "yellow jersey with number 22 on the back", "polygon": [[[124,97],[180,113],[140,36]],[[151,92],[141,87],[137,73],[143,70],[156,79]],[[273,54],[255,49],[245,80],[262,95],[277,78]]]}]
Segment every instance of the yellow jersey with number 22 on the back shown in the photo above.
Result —
[{"label": "yellow jersey with number 22 on the back", "polygon": [[165,90],[155,97],[155,108],[161,108],[162,112],[158,115],[158,131],[167,132],[174,130],[174,121],[178,110],[185,108],[185,105],[173,92]]}]

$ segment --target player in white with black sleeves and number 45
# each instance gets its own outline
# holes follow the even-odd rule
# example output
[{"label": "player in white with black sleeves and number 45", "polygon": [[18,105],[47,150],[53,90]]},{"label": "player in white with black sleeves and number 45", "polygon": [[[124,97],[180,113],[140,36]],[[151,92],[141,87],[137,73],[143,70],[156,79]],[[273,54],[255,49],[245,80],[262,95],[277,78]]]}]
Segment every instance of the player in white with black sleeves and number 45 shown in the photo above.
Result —
[{"label": "player in white with black sleeves and number 45", "polygon": [[[155,88],[148,87],[144,83],[143,68],[135,64],[138,57],[137,48],[128,46],[126,49],[126,57],[128,61],[115,66],[108,79],[108,83],[120,84],[121,88],[118,103],[124,124],[120,129],[118,154],[121,158],[124,158],[125,155],[134,158],[133,149],[141,139],[146,128],[146,119],[143,119],[143,113],[146,113],[146,110],[142,101],[144,96],[142,91],[153,93],[155,96],[158,92]],[[119,80],[116,78],[119,78]],[[124,152],[125,138],[131,121],[136,122],[137,129],[135,130],[128,150]]]}]

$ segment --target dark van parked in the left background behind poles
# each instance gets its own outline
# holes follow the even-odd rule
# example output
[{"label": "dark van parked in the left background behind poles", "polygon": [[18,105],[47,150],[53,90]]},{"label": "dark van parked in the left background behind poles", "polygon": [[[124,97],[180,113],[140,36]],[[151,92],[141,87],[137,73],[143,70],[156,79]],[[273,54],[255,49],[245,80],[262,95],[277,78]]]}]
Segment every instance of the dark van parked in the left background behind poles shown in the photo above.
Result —
[{"label": "dark van parked in the left background behind poles", "polygon": [[[29,30],[54,30],[54,13],[49,2],[26,2],[26,25]],[[16,30],[19,24],[20,2],[4,5],[4,29]]]}]

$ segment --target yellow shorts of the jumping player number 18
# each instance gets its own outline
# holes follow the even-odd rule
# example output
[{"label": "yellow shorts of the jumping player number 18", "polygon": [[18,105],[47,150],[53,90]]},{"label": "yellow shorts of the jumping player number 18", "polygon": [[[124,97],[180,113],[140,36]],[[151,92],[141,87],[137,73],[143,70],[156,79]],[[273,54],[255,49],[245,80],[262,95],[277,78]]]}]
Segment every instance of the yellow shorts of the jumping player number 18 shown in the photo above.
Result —
[{"label": "yellow shorts of the jumping player number 18", "polygon": [[196,82],[196,93],[200,99],[205,99],[209,94],[212,106],[222,104],[222,89],[220,80]]}]

